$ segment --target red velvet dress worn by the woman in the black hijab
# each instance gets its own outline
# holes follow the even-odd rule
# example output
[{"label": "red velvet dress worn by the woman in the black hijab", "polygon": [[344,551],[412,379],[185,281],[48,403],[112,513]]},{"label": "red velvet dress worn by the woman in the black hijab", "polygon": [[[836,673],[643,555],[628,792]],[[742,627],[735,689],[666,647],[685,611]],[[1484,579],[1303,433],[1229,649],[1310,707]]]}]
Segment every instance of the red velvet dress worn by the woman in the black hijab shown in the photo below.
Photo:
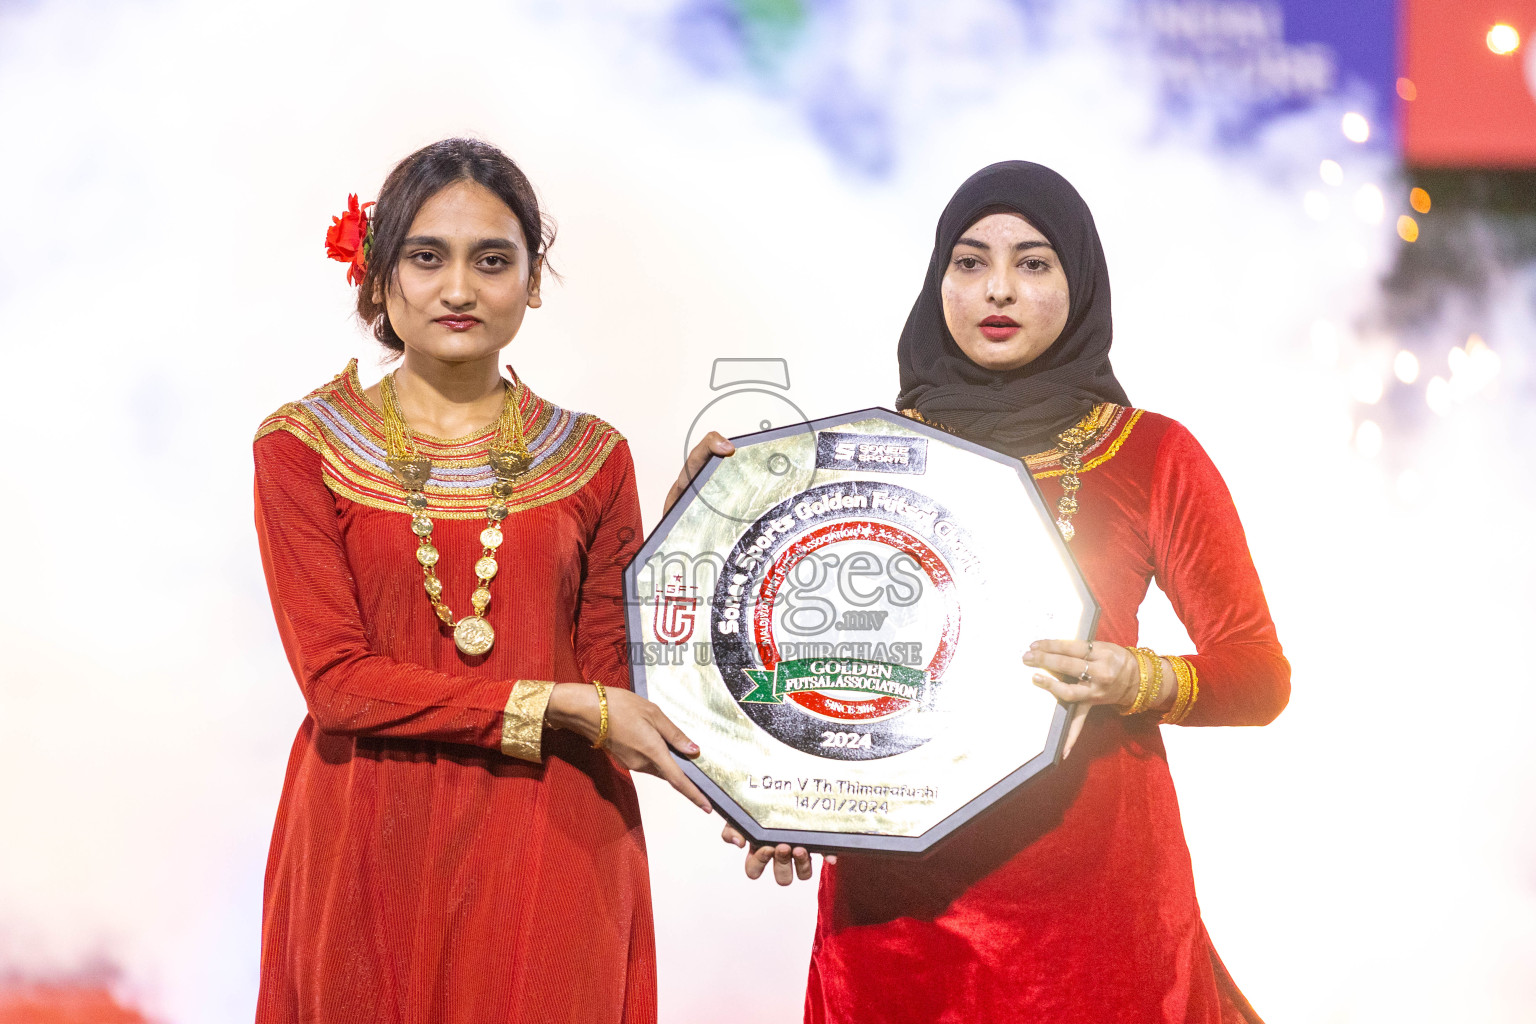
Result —
[{"label": "red velvet dress worn by the woman in the black hijab", "polygon": [[[1095,421],[1072,551],[1098,639],[1137,643],[1157,577],[1198,651],[1183,725],[1270,722],[1290,666],[1221,476],[1167,418]],[[1054,508],[1060,453],[1028,462]],[[1095,708],[1060,766],[928,857],[823,867],[806,1021],[1258,1021],[1200,920],[1158,720]]]}]

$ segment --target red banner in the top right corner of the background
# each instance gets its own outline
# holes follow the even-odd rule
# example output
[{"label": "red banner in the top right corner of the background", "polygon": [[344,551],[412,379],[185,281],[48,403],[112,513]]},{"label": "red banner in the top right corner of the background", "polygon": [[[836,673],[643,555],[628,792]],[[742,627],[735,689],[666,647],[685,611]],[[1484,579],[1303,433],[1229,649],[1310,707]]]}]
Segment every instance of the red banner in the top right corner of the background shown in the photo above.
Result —
[{"label": "red banner in the top right corner of the background", "polygon": [[1536,0],[1407,0],[1402,18],[1407,161],[1536,169]]}]

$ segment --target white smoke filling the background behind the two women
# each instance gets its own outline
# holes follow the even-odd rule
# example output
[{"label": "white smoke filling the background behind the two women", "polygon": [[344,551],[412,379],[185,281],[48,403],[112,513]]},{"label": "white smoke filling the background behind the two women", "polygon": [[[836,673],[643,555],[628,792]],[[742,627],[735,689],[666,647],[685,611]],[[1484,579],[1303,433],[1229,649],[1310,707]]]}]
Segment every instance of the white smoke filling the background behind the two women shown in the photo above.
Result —
[{"label": "white smoke filling the background behind the two women", "polygon": [[[700,63],[680,11],[0,8],[0,976],[109,963],[157,1019],[249,1019],[303,717],[250,438],[349,358],[382,372],[321,247],[347,192],[475,134],[561,223],[564,282],[508,358],[630,438],[648,525],[716,358],[785,359],[809,416],[889,405],[951,190],[1000,158],[1066,173],[1117,370],[1226,474],[1295,669],[1273,726],[1169,731],[1217,947],[1272,1019],[1528,1018],[1530,273],[1478,310],[1496,373],[1428,398],[1453,347],[1470,365],[1445,312],[1416,325],[1445,353],[1428,411],[1373,418],[1405,183],[1342,135],[1353,107],[1220,147],[1100,0],[839,5],[740,66]],[[746,884],[717,820],[641,792],[664,1019],[794,1019],[814,892]]]}]

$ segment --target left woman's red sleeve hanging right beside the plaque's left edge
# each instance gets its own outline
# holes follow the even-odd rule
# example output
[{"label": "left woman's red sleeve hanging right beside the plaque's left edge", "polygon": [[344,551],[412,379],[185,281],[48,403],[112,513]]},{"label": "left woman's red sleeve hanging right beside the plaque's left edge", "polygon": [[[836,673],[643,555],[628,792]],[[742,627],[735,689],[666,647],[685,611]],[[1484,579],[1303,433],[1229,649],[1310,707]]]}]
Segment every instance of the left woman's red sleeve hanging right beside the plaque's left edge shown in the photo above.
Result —
[{"label": "left woman's red sleeve hanging right beside the plaque's left edge", "polygon": [[630,445],[621,441],[593,479],[604,494],[602,511],[587,545],[581,605],[576,611],[576,663],[588,680],[630,688],[625,645],[624,568],[639,551],[641,496],[634,487]]}]

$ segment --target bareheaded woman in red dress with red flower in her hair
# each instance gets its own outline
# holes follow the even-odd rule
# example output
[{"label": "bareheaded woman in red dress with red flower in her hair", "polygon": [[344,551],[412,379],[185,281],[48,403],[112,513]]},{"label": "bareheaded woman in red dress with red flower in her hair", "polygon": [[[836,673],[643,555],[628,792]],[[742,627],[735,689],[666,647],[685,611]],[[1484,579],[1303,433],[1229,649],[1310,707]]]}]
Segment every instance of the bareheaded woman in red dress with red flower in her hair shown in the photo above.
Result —
[{"label": "bareheaded woman in red dress with red flower in her hair", "polygon": [[[628,447],[501,376],[550,233],[498,149],[399,163],[332,227],[399,368],[356,362],[255,442],[304,718],[267,861],[258,1024],[656,1019],[628,769],[708,811],[628,692]],[[604,748],[604,749],[598,749]]]}]

